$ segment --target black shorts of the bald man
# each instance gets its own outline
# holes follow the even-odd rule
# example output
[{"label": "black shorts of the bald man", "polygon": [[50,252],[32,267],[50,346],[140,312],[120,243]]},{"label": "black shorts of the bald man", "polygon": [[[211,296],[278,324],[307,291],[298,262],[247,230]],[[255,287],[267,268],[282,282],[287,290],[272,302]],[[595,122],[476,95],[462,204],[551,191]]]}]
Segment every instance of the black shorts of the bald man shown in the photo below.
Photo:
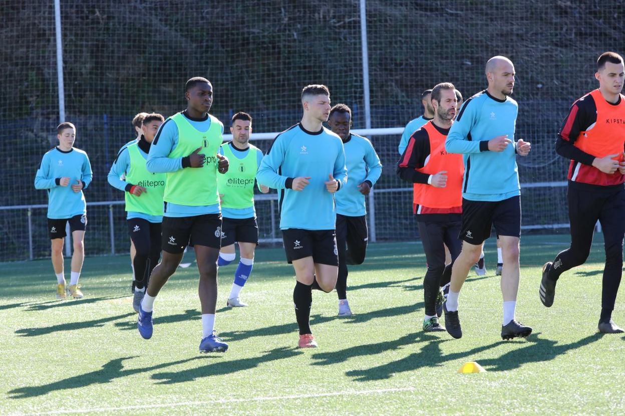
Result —
[{"label": "black shorts of the bald man", "polygon": [[521,196],[495,202],[462,198],[462,229],[458,238],[480,245],[491,236],[493,225],[499,236],[521,236]]}]

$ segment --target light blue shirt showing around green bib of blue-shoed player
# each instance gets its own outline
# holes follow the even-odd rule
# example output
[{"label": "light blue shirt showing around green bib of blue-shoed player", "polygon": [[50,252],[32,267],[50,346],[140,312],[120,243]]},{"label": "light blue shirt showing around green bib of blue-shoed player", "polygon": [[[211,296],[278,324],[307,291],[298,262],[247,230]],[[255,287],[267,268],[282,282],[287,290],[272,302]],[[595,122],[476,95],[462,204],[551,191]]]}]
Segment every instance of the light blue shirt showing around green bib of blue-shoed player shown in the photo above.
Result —
[{"label": "light blue shirt showing around green bib of blue-shoed player", "polygon": [[[189,118],[183,115],[187,121],[198,131],[206,132],[211,127],[211,118],[203,120]],[[221,134],[224,133],[224,126],[221,126]],[[154,137],[146,168],[153,173],[168,173],[183,169],[183,158],[169,158],[169,154],[178,145],[178,126],[171,118],[165,120]],[[190,168],[189,168],[190,169]],[[171,217],[195,216],[204,214],[218,214],[221,210],[219,204],[189,206],[174,204],[171,202],[165,205],[165,215]]]}]

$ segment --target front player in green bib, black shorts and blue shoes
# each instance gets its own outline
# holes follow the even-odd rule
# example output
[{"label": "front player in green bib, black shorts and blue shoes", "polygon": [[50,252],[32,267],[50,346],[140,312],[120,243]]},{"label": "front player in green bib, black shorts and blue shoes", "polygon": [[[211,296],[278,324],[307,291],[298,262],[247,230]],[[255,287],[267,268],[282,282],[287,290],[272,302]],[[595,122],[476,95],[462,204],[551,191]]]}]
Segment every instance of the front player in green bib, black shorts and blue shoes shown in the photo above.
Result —
[{"label": "front player in green bib, black shorts and blue shoes", "polygon": [[189,79],[185,85],[187,108],[166,119],[150,147],[148,171],[167,173],[163,196],[163,258],[152,271],[141,301],[138,328],[143,338],[152,337],[154,298],[176,271],[191,240],[199,270],[198,293],[202,306],[203,337],[199,350],[225,352],[228,345],[217,337],[214,326],[217,257],[221,247],[217,172],[226,173],[228,161],[217,153],[224,126],[208,114],[212,91],[212,84],[206,78]]}]

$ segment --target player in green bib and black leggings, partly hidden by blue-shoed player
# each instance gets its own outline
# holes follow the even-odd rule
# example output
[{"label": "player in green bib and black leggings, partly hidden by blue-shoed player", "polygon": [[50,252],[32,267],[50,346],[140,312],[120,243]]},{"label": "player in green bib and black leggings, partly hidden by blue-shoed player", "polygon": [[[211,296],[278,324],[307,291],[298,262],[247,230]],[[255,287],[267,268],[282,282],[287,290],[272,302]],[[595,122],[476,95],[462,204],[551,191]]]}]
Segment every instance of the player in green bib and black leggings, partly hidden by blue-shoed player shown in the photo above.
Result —
[{"label": "player in green bib and black leggings, partly hidden by blue-shoed player", "polygon": [[[133,246],[134,299],[133,308],[139,312],[145,286],[154,266],[161,257],[161,223],[163,222],[164,173],[150,173],[146,161],[156,132],[165,119],[161,114],[148,114],[143,121],[139,141],[124,145],[109,171],[111,186],[124,192],[126,220]],[[124,179],[120,179],[124,177]]]}]

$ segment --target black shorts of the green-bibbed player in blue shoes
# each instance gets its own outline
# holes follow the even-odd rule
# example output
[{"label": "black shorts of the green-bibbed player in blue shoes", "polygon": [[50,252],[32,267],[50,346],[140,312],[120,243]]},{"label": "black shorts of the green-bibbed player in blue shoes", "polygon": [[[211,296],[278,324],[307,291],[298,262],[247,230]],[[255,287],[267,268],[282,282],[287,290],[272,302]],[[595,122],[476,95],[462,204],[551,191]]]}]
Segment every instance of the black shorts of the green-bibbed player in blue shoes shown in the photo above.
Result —
[{"label": "black shorts of the green-bibbed player in blue shoes", "polygon": [[180,254],[191,245],[221,248],[221,214],[163,217],[163,251]]}]

